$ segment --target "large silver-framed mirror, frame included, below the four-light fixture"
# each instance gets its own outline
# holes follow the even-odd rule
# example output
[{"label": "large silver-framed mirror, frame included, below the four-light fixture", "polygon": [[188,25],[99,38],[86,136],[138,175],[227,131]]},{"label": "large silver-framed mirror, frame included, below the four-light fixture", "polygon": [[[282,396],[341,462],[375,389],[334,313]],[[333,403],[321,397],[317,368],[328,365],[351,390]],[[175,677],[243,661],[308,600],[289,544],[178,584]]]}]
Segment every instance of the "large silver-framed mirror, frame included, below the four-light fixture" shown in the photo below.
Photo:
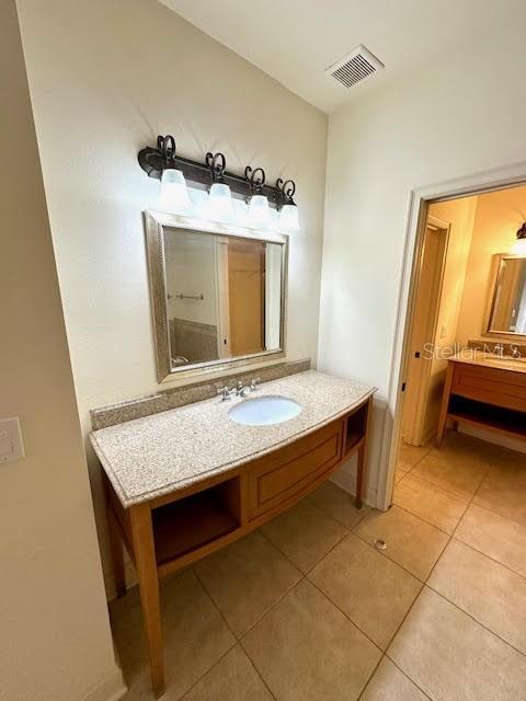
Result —
[{"label": "large silver-framed mirror, frame included, below the four-light fixture", "polygon": [[282,357],[288,237],[146,212],[158,379]]}]

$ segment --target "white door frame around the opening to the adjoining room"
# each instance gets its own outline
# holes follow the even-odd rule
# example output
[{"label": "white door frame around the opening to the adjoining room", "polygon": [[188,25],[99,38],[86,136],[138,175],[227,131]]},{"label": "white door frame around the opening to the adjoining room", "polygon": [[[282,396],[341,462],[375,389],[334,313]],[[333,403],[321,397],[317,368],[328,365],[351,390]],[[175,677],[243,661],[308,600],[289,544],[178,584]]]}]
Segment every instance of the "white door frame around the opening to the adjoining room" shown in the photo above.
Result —
[{"label": "white door frame around the opening to the adjoining room", "polygon": [[526,161],[523,160],[508,165],[443,181],[434,185],[419,187],[410,193],[402,256],[402,275],[398,289],[395,340],[391,350],[387,406],[378,469],[377,507],[381,510],[387,510],[392,501],[403,409],[402,383],[409,361],[409,334],[414,314],[419,261],[422,255],[428,206],[432,202],[481,195],[525,184]]}]

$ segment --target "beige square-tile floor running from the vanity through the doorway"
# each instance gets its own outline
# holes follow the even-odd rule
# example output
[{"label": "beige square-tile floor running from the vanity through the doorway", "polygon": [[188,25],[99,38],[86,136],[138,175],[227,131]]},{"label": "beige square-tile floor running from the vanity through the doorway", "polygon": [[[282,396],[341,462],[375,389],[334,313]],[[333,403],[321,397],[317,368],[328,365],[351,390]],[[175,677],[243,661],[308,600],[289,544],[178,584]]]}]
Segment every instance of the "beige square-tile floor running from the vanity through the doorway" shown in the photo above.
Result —
[{"label": "beige square-tile floor running from the vanity through the doorway", "polygon": [[[161,598],[165,701],[525,701],[526,456],[403,446],[387,513],[328,482]],[[137,589],[111,608],[150,699]]]}]

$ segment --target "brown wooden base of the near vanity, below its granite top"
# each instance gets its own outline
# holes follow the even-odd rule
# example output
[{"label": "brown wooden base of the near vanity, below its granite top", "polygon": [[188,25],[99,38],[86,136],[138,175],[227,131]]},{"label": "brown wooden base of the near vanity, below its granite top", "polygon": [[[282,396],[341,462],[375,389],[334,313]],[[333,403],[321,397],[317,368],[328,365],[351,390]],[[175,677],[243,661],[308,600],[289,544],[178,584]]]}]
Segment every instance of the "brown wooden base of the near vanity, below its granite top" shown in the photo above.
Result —
[{"label": "brown wooden base of the near vanity, below its granite top", "polygon": [[261,458],[129,508],[105,479],[117,595],[126,589],[124,545],[137,571],[156,697],[164,691],[159,581],[289,508],[355,452],[359,508],[370,404],[369,397],[347,415]]}]

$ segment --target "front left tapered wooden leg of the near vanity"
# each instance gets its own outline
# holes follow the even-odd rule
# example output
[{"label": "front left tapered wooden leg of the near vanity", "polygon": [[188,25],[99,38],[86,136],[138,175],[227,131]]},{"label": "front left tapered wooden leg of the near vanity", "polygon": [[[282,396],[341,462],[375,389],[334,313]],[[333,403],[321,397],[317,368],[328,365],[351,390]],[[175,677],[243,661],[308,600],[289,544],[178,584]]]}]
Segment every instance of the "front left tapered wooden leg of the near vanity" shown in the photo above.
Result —
[{"label": "front left tapered wooden leg of the near vanity", "polygon": [[150,675],[153,694],[158,699],[164,693],[164,662],[162,654],[161,608],[159,602],[159,578],[157,575],[156,548],[148,504],[137,504],[129,509],[134,539],[135,564],[139,581],[140,604],[145,621],[146,639],[150,657]]}]

